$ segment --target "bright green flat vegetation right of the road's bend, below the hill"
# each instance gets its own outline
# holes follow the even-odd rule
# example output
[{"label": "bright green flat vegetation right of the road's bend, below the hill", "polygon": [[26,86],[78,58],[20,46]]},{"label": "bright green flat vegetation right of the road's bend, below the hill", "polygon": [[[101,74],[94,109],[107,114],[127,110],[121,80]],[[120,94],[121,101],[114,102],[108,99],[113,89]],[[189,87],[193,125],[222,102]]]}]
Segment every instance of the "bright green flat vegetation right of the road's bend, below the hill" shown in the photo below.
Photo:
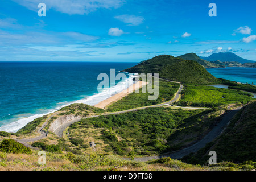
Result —
[{"label": "bright green flat vegetation right of the road's bend, below the hill", "polygon": [[177,102],[181,106],[216,107],[236,102],[246,104],[254,100],[250,93],[213,86],[187,86],[181,94],[181,100]]}]

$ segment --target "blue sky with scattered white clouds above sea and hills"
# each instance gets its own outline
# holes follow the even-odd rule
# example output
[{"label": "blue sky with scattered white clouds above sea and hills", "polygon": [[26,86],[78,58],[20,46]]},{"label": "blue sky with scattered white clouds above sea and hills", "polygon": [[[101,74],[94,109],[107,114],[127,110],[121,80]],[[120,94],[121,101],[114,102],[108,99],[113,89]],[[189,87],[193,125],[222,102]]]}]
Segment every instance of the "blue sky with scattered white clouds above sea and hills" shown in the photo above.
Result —
[{"label": "blue sky with scattered white clouds above sea and hills", "polygon": [[226,51],[256,60],[255,7],[249,0],[1,0],[0,61],[139,62]]}]

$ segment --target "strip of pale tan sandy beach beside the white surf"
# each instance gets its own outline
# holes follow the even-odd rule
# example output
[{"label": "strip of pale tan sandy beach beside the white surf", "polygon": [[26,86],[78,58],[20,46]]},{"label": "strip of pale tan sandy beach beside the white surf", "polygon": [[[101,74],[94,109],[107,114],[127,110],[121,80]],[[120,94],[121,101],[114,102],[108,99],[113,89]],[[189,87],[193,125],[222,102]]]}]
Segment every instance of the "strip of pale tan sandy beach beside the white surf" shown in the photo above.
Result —
[{"label": "strip of pale tan sandy beach beside the white surf", "polygon": [[127,96],[129,93],[133,93],[135,90],[137,90],[147,84],[148,84],[148,82],[144,82],[144,81],[135,82],[135,84],[129,86],[129,88],[127,88],[126,90],[123,90],[122,92],[119,92],[119,93],[115,94],[114,96],[107,98],[106,100],[101,101],[94,106],[101,108],[101,109],[106,109],[106,106],[109,106],[113,102],[120,100],[121,98]]}]

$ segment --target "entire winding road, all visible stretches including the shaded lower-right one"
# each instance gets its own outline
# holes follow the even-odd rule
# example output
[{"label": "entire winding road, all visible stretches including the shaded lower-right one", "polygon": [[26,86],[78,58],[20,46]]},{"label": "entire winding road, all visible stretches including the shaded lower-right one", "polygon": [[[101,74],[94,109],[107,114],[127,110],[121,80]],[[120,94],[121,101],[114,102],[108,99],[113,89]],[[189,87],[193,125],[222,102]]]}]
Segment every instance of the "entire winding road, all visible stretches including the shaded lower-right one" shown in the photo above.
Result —
[{"label": "entire winding road, all visible stretches including the shaded lower-right one", "polygon": [[[165,80],[163,78],[159,78],[159,79]],[[165,80],[165,81],[175,82],[175,83],[179,83],[180,84],[180,88],[179,88],[179,90],[177,90],[174,98],[172,98],[172,100],[170,100],[168,102],[164,102],[164,103],[158,104],[158,105],[151,105],[151,106],[139,107],[139,108],[124,110],[124,111],[117,111],[117,112],[113,112],[113,113],[104,113],[104,114],[99,114],[99,115],[92,115],[92,116],[88,116],[88,117],[73,119],[73,120],[68,121],[68,122],[64,123],[63,125],[59,126],[55,131],[53,131],[53,133],[55,133],[59,137],[63,137],[64,130],[68,126],[70,126],[71,124],[73,124],[73,123],[75,123],[77,121],[80,121],[81,119],[100,117],[101,115],[128,113],[128,112],[131,112],[131,111],[147,109],[148,107],[160,107],[160,106],[170,105],[170,104],[174,103],[175,101],[177,101],[179,99],[179,97],[181,95],[181,90],[183,89],[183,85],[180,82],[176,82],[176,81],[170,81],[170,80]],[[188,107],[188,108],[189,109],[201,109],[201,108],[192,108],[192,107]],[[204,108],[204,109],[207,109],[207,108]],[[218,123],[218,125],[215,126],[207,135],[205,135],[205,137],[202,140],[200,140],[199,142],[193,144],[190,147],[184,148],[182,150],[174,151],[174,152],[169,152],[169,153],[166,153],[166,154],[160,154],[160,155],[157,155],[157,156],[148,156],[148,157],[142,157],[142,158],[135,158],[134,160],[137,160],[137,161],[147,161],[147,160],[159,159],[159,158],[167,157],[167,156],[171,157],[172,159],[180,159],[180,158],[183,158],[183,156],[190,154],[191,152],[196,152],[196,151],[200,150],[200,148],[203,148],[205,146],[205,144],[207,144],[209,142],[212,142],[212,140],[214,138],[216,138],[218,135],[220,135],[222,130],[225,128],[227,123],[230,121],[230,119],[232,119],[233,116],[240,109],[241,109],[241,107],[239,107],[237,109],[234,109],[234,110],[226,111],[226,114],[221,119],[221,121]],[[33,149],[37,149],[37,148],[31,147],[29,144],[27,144],[27,142],[34,142],[36,140],[40,140],[40,139],[43,139],[43,138],[47,137],[48,132],[44,131],[43,128],[47,125],[49,119],[51,119],[56,114],[59,114],[59,112],[51,115],[51,117],[49,117],[46,120],[46,122],[43,123],[42,127],[39,128],[38,132],[41,133],[42,135],[40,135],[39,137],[30,138],[30,139],[18,139],[16,141],[24,144],[27,147],[30,147],[30,148],[33,148]]]}]

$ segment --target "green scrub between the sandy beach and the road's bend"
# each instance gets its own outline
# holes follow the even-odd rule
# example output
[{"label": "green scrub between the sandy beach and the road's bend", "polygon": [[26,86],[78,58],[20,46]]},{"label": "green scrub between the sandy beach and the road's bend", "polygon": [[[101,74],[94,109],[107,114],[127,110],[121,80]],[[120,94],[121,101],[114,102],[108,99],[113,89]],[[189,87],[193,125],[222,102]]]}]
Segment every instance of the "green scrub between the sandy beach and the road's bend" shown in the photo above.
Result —
[{"label": "green scrub between the sandy beach and the road's bend", "polygon": [[[151,88],[151,85],[153,85],[152,88],[154,88],[154,82],[148,84],[147,86],[150,86]],[[123,97],[121,100],[114,102],[112,105],[108,106],[108,109],[106,111],[128,110],[136,107],[150,106],[167,102],[174,97],[174,94],[177,92],[179,87],[179,84],[159,80],[159,96],[156,100],[148,100],[148,96],[150,94],[148,92],[142,93],[141,88],[140,94],[131,93],[128,96]]]}]

